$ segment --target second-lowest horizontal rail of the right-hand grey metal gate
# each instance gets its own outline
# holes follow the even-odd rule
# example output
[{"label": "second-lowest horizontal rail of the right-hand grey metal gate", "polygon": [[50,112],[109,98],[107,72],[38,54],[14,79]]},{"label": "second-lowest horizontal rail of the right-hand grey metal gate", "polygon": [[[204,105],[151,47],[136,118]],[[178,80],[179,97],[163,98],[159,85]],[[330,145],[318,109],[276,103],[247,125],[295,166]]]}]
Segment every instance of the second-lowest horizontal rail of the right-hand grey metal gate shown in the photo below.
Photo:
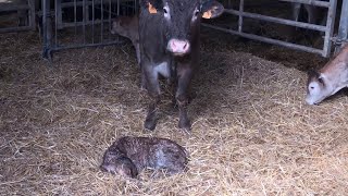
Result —
[{"label": "second-lowest horizontal rail of the right-hand grey metal gate", "polygon": [[313,29],[313,30],[319,30],[319,32],[325,32],[326,30],[325,26],[315,25],[315,24],[295,22],[295,21],[291,21],[291,20],[272,17],[272,16],[266,16],[266,15],[261,15],[261,14],[256,14],[256,13],[249,13],[249,12],[239,12],[237,10],[232,10],[232,9],[227,9],[227,10],[225,10],[225,12],[229,13],[229,14],[234,14],[234,15],[241,15],[241,16],[245,16],[245,17],[262,20],[262,21],[268,21],[268,22],[278,23],[278,24],[285,24],[285,25],[289,25],[289,26],[297,26],[297,27],[308,28],[308,29]]}]

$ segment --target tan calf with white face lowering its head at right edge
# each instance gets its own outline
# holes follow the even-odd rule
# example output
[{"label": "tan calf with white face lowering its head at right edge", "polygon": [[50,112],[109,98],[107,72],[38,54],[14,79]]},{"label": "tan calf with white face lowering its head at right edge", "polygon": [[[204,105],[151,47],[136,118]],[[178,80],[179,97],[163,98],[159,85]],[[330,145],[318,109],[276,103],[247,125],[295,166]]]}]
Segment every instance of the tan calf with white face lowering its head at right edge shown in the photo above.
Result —
[{"label": "tan calf with white face lowering its head at right edge", "polygon": [[315,105],[348,86],[348,45],[319,71],[311,71],[306,102]]}]

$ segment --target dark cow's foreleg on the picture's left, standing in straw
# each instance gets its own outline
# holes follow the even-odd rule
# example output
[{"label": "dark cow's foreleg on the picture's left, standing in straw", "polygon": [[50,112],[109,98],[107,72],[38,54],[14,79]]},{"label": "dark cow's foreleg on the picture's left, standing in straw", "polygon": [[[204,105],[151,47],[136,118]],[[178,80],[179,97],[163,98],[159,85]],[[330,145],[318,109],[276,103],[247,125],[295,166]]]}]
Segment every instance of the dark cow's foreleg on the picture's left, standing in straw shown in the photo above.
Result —
[{"label": "dark cow's foreleg on the picture's left, standing in straw", "polygon": [[160,85],[158,81],[158,73],[154,72],[152,66],[145,65],[145,68],[142,68],[142,74],[145,74],[146,87],[150,96],[150,103],[144,126],[147,130],[153,131],[157,123],[157,105],[160,102]]}]

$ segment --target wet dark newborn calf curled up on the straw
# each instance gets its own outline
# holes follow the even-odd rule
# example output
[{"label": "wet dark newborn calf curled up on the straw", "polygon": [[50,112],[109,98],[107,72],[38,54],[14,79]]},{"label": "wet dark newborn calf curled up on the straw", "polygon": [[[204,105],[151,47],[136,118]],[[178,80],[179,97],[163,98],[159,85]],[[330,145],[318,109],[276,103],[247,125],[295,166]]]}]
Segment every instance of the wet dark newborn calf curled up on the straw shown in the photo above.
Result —
[{"label": "wet dark newborn calf curled up on the straw", "polygon": [[142,169],[165,169],[170,174],[186,169],[187,151],[173,140],[156,137],[122,137],[108,148],[102,171],[136,177]]}]

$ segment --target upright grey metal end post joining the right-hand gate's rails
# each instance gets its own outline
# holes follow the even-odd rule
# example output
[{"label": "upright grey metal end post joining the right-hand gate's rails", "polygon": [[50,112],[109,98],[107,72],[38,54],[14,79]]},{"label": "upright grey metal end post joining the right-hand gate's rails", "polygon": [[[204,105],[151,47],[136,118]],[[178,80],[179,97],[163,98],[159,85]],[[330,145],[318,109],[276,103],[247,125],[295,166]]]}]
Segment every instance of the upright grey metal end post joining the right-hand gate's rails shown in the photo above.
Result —
[{"label": "upright grey metal end post joining the right-hand gate's rails", "polygon": [[324,48],[323,48],[324,50],[323,57],[325,58],[327,58],[331,53],[331,46],[332,46],[331,38],[333,37],[333,34],[334,34],[336,7],[337,7],[337,0],[330,0],[330,8],[327,10],[325,38],[324,38]]}]

